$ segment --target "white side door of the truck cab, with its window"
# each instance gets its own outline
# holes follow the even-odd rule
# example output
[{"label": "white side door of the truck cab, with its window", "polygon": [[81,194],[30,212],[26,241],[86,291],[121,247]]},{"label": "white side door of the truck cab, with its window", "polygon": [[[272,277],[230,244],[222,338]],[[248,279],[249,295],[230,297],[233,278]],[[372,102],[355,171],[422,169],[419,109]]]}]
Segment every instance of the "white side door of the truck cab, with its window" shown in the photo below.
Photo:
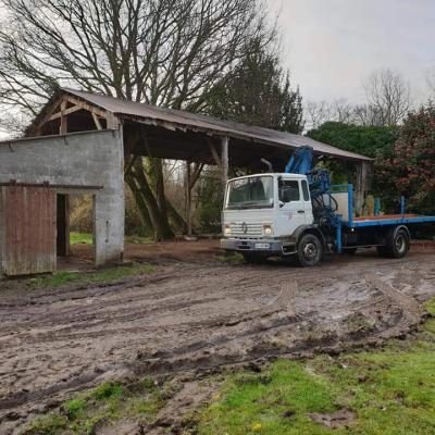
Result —
[{"label": "white side door of the truck cab, with its window", "polygon": [[277,236],[290,235],[304,225],[306,209],[298,179],[281,177],[278,179],[279,227]]}]

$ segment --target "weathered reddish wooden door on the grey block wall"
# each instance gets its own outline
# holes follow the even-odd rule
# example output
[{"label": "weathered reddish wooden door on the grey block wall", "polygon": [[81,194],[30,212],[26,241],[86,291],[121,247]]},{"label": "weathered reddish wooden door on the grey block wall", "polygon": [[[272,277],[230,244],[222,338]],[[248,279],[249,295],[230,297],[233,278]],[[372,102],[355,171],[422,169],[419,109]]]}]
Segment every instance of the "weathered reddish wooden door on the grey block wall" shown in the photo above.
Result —
[{"label": "weathered reddish wooden door on the grey block wall", "polygon": [[55,192],[45,187],[3,186],[3,273],[55,271]]}]

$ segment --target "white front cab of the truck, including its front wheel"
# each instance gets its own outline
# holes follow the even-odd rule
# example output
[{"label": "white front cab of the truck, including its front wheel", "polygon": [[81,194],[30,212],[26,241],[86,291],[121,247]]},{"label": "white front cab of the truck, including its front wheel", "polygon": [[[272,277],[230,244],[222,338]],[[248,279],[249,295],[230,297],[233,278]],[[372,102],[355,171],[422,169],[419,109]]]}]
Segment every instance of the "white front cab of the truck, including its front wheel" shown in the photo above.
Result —
[{"label": "white front cab of the truck, including its front wheel", "polygon": [[323,254],[306,175],[266,173],[228,181],[222,217],[221,246],[247,261],[298,253],[306,234],[311,237],[303,244],[302,265],[319,262]]}]

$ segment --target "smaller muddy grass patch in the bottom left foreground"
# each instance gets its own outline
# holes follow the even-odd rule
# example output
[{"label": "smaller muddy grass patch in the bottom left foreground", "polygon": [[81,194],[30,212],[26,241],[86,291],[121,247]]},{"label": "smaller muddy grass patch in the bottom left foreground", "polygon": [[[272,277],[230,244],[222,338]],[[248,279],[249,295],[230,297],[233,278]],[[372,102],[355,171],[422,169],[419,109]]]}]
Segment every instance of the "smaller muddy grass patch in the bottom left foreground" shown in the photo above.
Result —
[{"label": "smaller muddy grass patch in the bottom left foreground", "polygon": [[134,419],[148,424],[156,420],[165,399],[147,377],[137,385],[108,382],[65,403],[59,411],[30,422],[25,435],[60,435],[95,433],[100,423]]}]

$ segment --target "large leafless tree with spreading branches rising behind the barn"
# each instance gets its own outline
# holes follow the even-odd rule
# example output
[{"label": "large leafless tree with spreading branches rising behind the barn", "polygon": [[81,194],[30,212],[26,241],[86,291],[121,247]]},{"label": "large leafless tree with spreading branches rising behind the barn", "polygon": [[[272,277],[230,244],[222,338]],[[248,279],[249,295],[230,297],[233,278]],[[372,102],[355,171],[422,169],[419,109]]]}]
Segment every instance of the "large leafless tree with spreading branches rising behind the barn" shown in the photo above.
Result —
[{"label": "large leafless tree with spreading branches rising behind the barn", "polygon": [[[265,46],[262,0],[0,0],[0,103],[28,117],[60,85],[174,109],[200,110],[209,90]],[[139,140],[139,139],[137,139]],[[171,237],[162,162],[129,165],[144,222]],[[152,219],[151,219],[152,217]],[[163,223],[163,224],[162,224]]]}]

